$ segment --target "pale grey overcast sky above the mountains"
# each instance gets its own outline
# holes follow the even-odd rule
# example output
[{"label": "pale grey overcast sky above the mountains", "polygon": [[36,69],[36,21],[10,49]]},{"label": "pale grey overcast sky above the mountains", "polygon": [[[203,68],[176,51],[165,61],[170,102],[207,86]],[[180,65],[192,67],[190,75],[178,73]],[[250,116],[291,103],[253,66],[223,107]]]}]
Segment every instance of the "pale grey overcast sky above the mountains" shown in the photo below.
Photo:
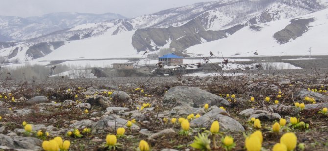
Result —
[{"label": "pale grey overcast sky above the mountains", "polygon": [[1,16],[41,16],[55,12],[118,13],[128,18],[215,0],[0,0]]}]

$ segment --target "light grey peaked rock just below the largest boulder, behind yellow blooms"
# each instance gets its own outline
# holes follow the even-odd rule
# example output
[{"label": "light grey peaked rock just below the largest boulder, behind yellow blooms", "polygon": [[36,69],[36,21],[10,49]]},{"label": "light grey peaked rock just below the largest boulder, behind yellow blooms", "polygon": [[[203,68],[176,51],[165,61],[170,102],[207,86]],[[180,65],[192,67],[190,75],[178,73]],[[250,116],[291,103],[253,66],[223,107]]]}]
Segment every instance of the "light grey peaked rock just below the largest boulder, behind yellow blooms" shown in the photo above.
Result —
[{"label": "light grey peaked rock just below the largest boulder, behind yellow blooms", "polygon": [[194,119],[190,122],[192,127],[207,127],[209,128],[213,121],[217,120],[220,123],[220,129],[230,131],[245,131],[244,127],[233,118],[226,116],[227,112],[220,109],[214,108],[203,116]]}]

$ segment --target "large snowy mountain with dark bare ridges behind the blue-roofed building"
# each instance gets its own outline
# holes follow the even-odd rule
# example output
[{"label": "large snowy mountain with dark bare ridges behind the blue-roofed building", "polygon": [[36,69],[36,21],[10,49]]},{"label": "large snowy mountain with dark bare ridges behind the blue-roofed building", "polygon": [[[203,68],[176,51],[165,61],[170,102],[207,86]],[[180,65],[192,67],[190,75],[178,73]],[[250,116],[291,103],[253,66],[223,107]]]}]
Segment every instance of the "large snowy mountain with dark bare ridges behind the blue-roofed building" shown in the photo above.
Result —
[{"label": "large snowy mountain with dark bare ridges behind the blue-roofed building", "polygon": [[[325,37],[325,32],[312,32],[328,28],[327,6],[328,0],[203,2],[133,19],[80,24],[10,44],[12,47],[0,48],[0,55],[18,61],[131,58],[161,48],[198,57],[209,51],[227,51],[228,56],[252,56],[255,51],[259,55],[269,51],[293,55],[294,51],[288,53],[284,47],[298,44],[304,46],[302,49],[311,45],[322,55],[327,53],[320,49],[328,46],[313,39]],[[297,42],[300,39],[303,43]],[[295,51],[294,55],[300,54]]]}]

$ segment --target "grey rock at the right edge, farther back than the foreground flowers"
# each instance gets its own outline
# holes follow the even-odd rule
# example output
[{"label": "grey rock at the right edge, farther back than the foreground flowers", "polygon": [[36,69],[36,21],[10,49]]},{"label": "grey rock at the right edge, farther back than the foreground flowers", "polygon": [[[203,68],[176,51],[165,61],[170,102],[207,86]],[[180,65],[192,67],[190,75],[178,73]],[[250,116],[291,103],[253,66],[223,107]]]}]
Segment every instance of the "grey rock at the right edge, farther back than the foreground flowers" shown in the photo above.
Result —
[{"label": "grey rock at the right edge, farther back than the foreground flowers", "polygon": [[298,93],[296,93],[294,95],[294,97],[297,97],[301,100],[304,100],[304,98],[306,96],[313,97],[316,101],[319,101],[319,102],[328,102],[328,96],[320,94],[320,93],[312,92],[307,89],[300,89],[298,91]]}]

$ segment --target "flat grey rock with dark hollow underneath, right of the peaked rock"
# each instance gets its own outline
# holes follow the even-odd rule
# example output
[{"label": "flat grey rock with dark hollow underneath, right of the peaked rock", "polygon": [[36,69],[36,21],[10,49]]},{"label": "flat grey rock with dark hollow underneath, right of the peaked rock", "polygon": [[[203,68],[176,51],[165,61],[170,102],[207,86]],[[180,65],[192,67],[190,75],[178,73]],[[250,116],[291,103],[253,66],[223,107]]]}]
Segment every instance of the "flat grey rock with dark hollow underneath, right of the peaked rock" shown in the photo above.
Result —
[{"label": "flat grey rock with dark hollow underneath, right of the peaked rock", "polygon": [[260,120],[279,120],[281,116],[278,113],[267,112],[264,110],[246,109],[239,113],[241,116],[246,116],[249,118],[258,118]]}]

